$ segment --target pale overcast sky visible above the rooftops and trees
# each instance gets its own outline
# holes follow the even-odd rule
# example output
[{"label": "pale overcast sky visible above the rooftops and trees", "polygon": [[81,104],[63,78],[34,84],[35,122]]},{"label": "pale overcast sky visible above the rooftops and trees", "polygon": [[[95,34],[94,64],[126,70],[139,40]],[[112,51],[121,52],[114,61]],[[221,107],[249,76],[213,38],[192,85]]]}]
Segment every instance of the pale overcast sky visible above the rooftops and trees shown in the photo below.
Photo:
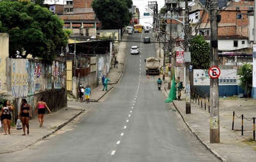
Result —
[{"label": "pale overcast sky visible above the rooftops and trees", "polygon": [[[154,0],[157,1],[158,11],[164,6],[164,0]],[[133,5],[137,6],[140,10],[140,24],[143,26],[150,26],[153,22],[152,15],[144,16],[143,13],[148,12],[146,8],[148,8],[148,0],[132,0]],[[52,0],[45,0],[45,3],[54,4]],[[63,4],[63,0],[59,0],[56,4]],[[149,11],[150,12],[150,11]],[[145,22],[149,22],[150,24],[146,24]]]}]

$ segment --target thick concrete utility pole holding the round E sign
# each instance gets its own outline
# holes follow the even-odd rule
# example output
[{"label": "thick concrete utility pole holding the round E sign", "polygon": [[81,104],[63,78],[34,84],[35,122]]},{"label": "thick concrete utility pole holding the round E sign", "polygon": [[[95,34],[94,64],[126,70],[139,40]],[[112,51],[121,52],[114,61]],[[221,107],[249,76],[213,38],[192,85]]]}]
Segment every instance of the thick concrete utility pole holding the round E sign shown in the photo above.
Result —
[{"label": "thick concrete utility pole holding the round E sign", "polygon": [[[210,0],[211,67],[218,68],[218,1]],[[219,79],[210,79],[210,143],[220,143]]]}]

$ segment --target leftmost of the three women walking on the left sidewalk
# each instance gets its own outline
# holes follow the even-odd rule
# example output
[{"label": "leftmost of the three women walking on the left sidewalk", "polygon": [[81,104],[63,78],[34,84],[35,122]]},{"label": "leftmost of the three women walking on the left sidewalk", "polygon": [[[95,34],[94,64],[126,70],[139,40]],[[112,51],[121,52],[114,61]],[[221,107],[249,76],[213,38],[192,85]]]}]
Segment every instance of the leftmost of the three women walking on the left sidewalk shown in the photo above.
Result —
[{"label": "leftmost of the three women walking on the left sidewalk", "polygon": [[8,126],[8,134],[10,135],[10,129],[11,129],[11,122],[12,122],[12,110],[14,110],[14,107],[12,104],[10,104],[9,100],[4,101],[3,107],[1,107],[1,121],[3,121],[4,124],[4,135],[7,135],[7,126]]}]

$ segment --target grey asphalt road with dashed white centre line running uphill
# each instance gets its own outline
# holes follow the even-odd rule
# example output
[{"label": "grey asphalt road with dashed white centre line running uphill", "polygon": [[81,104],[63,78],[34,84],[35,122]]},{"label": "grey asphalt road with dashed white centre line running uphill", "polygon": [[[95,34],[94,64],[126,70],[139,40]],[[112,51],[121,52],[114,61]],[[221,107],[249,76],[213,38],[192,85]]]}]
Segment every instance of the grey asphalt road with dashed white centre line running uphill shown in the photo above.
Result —
[{"label": "grey asphalt road with dashed white centre line running uphill", "polygon": [[[138,41],[151,33],[132,34]],[[129,53],[132,45],[139,55]],[[145,73],[144,59],[156,55],[154,43],[127,42],[124,75],[98,103],[57,133],[23,151],[1,155],[1,161],[218,161],[205,149],[156,80]],[[80,103],[74,103],[80,104]]]}]

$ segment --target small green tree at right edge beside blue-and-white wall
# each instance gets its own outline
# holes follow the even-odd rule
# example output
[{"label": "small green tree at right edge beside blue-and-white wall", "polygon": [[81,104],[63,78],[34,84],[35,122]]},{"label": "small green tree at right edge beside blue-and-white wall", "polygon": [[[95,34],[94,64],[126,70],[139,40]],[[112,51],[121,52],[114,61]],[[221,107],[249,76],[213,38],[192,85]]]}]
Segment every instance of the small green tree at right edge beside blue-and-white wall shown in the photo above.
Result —
[{"label": "small green tree at right edge beside blue-and-white wall", "polygon": [[239,75],[239,85],[246,91],[247,96],[250,97],[252,92],[252,65],[243,64],[238,69],[237,75]]}]

